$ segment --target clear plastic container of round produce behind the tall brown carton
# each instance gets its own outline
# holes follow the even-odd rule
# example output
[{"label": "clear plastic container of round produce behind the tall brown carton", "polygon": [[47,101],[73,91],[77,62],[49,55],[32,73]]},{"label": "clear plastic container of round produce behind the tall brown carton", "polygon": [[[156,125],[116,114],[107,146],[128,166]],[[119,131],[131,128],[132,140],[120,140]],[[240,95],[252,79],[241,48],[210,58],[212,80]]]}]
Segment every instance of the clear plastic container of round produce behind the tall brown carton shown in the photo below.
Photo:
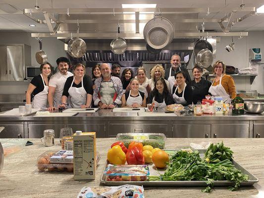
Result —
[{"label": "clear plastic container of round produce behind the tall brown carton", "polygon": [[[56,151],[45,151],[37,158],[37,167],[40,171],[58,171],[58,172],[73,172],[73,163],[51,163],[51,157],[57,153]],[[96,152],[96,162],[100,159],[99,152]]]}]

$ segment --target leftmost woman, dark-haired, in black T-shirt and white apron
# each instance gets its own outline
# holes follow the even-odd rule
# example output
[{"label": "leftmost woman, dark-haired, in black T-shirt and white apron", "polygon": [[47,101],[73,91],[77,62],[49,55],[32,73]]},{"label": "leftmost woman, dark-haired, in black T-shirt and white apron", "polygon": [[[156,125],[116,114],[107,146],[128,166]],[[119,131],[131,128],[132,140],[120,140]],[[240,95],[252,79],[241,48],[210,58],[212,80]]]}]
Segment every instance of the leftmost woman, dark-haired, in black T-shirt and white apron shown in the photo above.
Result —
[{"label": "leftmost woman, dark-haired, in black T-shirt and white apron", "polygon": [[32,101],[32,108],[47,108],[48,92],[49,92],[49,75],[52,72],[52,65],[44,63],[40,66],[41,74],[35,76],[30,82],[26,92],[26,103],[30,104],[31,94],[34,98]]}]

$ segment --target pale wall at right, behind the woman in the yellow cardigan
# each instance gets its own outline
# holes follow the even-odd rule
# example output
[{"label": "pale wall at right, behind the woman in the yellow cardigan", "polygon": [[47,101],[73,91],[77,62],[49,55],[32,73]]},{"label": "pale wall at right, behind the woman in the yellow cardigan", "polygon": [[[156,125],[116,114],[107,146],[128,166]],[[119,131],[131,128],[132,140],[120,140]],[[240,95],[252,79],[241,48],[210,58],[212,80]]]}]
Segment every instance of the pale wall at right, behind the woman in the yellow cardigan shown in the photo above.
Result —
[{"label": "pale wall at right, behind the woman in the yellow cardigan", "polygon": [[[249,32],[247,37],[238,39],[233,37],[235,50],[228,52],[225,49],[232,40],[231,37],[221,37],[220,43],[216,44],[216,59],[222,60],[226,65],[232,65],[239,69],[249,67],[249,49],[260,48],[264,55],[264,31]],[[262,57],[264,62],[264,57]],[[214,61],[215,61],[214,60]],[[250,77],[234,77],[236,88],[242,90],[257,90],[258,93],[264,94],[264,64],[259,65],[259,74],[256,76],[252,85],[250,85]]]}]

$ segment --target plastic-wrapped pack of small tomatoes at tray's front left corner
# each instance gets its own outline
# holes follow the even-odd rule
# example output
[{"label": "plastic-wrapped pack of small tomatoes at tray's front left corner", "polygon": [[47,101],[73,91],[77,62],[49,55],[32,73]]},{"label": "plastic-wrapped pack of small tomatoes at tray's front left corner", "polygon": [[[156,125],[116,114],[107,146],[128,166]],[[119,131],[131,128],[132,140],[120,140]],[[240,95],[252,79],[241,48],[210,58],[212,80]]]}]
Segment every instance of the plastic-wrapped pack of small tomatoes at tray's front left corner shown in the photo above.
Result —
[{"label": "plastic-wrapped pack of small tomatoes at tray's front left corner", "polygon": [[148,181],[148,165],[113,165],[108,164],[105,170],[107,181]]}]

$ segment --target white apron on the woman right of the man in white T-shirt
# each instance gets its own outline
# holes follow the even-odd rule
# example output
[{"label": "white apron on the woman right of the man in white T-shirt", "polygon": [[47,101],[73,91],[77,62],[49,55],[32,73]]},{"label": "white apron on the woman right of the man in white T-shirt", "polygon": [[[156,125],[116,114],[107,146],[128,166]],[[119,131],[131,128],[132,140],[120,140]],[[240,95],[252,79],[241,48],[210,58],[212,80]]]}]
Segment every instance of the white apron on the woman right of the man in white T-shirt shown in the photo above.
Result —
[{"label": "white apron on the woman right of the man in white T-shirt", "polygon": [[86,104],[87,93],[83,87],[83,78],[82,78],[82,87],[72,87],[75,77],[71,83],[71,86],[68,90],[69,93],[69,108],[81,108],[81,105]]}]

